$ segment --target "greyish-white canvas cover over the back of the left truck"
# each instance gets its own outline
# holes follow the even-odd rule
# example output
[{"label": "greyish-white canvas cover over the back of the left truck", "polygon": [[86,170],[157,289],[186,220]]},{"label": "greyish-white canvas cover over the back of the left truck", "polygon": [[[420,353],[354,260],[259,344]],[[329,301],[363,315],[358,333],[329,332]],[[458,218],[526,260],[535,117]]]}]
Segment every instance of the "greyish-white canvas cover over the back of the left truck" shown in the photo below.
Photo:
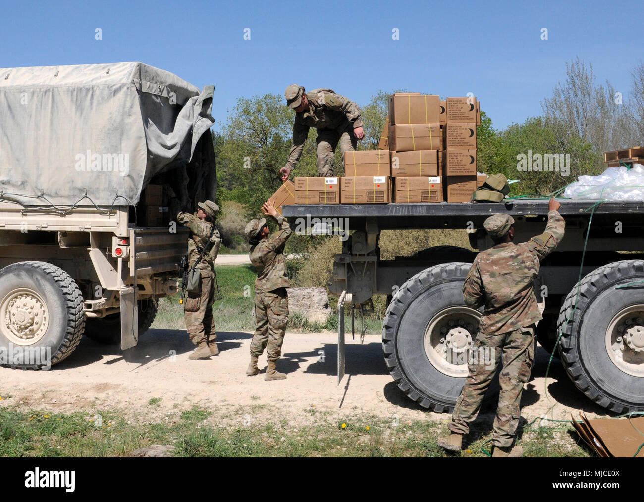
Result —
[{"label": "greyish-white canvas cover over the back of the left truck", "polygon": [[185,191],[193,157],[212,180],[213,91],[142,63],[0,69],[0,199],[136,204],[174,168]]}]

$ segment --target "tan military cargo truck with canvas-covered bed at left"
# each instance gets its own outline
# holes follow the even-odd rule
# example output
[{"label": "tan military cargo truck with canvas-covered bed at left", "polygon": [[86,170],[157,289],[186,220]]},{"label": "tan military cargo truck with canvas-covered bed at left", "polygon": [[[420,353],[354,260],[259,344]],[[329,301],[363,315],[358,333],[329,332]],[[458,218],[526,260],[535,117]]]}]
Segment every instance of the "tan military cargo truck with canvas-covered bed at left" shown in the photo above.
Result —
[{"label": "tan military cargo truck with canvas-covered bed at left", "polygon": [[187,242],[142,193],[214,200],[213,91],[142,63],[0,69],[0,363],[137,344]]}]

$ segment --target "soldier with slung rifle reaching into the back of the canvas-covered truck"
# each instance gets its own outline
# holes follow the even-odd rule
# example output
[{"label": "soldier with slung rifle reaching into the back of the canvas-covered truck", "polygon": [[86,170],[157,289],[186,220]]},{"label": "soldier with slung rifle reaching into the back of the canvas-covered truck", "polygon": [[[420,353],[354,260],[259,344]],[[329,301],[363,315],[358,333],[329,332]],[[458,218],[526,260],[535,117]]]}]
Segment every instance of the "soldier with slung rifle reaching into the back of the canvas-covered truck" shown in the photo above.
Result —
[{"label": "soldier with slung rifle reaching into the back of the canvas-covered truck", "polygon": [[[201,285],[196,293],[188,293],[184,300],[185,327],[191,342],[197,345],[196,350],[190,354],[189,359],[206,359],[211,355],[219,354],[213,325],[213,302],[214,302],[214,266],[205,252],[201,259],[200,254],[208,244],[211,235],[214,238],[214,245],[221,244],[219,231],[214,227],[214,220],[217,217],[219,206],[211,200],[200,202],[195,215],[180,211],[176,215],[177,221],[190,229],[188,238],[189,266],[201,274]],[[217,242],[217,240],[219,242]]]}]

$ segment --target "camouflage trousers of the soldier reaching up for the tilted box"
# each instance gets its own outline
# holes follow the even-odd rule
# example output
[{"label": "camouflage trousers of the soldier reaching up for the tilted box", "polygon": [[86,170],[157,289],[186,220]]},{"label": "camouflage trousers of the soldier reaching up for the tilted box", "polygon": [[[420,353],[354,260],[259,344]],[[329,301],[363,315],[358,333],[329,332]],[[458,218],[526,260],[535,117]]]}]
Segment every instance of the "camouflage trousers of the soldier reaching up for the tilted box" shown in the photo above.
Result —
[{"label": "camouflage trousers of the soldier reaching up for the tilted box", "polygon": [[289,321],[289,296],[280,287],[268,293],[255,293],[257,328],[252,335],[251,356],[261,356],[266,349],[269,361],[281,356],[286,324]]}]

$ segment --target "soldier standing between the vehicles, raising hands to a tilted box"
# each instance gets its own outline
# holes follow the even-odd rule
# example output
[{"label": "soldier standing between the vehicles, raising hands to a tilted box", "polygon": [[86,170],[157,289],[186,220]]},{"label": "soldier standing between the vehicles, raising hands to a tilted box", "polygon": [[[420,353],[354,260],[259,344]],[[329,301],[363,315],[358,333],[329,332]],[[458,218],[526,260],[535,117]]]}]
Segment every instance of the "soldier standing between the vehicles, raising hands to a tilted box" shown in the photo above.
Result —
[{"label": "soldier standing between the vehicles, raising hands to a tilted box", "polygon": [[289,222],[279,215],[269,200],[261,210],[265,215],[275,218],[279,231],[269,235],[266,219],[252,220],[244,233],[251,243],[251,262],[257,269],[255,281],[255,317],[257,329],[252,335],[251,363],[246,371],[248,376],[260,372],[257,360],[264,349],[267,352],[268,366],[264,380],[283,380],[286,375],[275,370],[281,356],[286,325],[289,321],[289,277],[286,273],[284,246],[291,236]]}]

